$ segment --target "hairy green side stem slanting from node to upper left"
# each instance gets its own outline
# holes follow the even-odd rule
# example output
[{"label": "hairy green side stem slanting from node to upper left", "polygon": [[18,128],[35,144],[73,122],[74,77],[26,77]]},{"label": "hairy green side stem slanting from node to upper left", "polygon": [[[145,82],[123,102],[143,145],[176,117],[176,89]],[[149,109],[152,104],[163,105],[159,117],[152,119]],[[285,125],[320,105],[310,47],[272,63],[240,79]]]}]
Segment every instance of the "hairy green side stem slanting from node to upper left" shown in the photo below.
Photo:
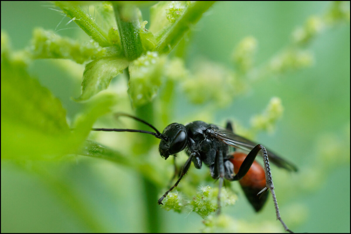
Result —
[{"label": "hairy green side stem slanting from node to upper left", "polygon": [[60,7],[69,18],[94,41],[98,42],[101,47],[113,46],[108,40],[106,33],[79,6],[69,1],[55,1],[54,4]]}]

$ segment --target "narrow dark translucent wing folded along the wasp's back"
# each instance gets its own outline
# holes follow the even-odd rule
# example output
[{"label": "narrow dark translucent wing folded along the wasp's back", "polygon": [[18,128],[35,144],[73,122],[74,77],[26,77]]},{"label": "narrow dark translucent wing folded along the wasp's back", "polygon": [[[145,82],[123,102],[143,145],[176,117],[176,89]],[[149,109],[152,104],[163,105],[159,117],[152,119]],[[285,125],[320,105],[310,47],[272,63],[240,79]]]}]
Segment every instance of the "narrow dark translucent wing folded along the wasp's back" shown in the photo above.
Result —
[{"label": "narrow dark translucent wing folded along the wasp's back", "polygon": [[[212,129],[211,135],[220,139],[227,145],[236,147],[241,150],[250,152],[253,147],[258,145],[258,143],[252,142],[244,137],[236,135],[233,132],[224,129]],[[297,171],[297,167],[290,163],[289,161],[279,157],[277,154],[273,153],[271,150],[267,149],[269,160],[278,167],[285,168],[288,171]]]}]

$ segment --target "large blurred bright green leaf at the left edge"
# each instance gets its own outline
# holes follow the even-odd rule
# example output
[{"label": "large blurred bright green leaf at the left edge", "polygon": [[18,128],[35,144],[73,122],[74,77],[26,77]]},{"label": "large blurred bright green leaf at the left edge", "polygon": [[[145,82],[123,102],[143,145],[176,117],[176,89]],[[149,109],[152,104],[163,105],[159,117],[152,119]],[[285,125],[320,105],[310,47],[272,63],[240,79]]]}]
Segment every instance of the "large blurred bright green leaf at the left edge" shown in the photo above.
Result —
[{"label": "large blurred bright green leaf at the left edge", "polygon": [[1,158],[52,158],[70,151],[65,109],[25,68],[1,58]]}]

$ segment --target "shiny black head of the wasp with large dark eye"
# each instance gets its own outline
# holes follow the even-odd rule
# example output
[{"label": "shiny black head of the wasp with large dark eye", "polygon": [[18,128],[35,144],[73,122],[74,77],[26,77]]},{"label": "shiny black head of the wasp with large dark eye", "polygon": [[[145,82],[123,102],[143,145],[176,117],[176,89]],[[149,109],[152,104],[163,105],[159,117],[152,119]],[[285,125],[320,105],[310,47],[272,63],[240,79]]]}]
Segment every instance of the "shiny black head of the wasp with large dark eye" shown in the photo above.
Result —
[{"label": "shiny black head of the wasp with large dark eye", "polygon": [[159,151],[165,159],[172,154],[184,150],[187,143],[187,131],[183,124],[172,123],[168,125],[162,133]]}]

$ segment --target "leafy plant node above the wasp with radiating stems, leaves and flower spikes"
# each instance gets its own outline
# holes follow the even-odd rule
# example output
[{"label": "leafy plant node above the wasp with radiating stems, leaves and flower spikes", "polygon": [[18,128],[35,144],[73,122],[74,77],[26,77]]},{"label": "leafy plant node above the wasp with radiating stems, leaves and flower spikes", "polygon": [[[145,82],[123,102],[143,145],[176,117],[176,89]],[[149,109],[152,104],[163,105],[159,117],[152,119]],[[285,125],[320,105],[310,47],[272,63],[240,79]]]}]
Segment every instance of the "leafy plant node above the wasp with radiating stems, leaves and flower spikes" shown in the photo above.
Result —
[{"label": "leafy plant node above the wasp with radiating stems, leaves and flower spikes", "polygon": [[[101,21],[104,22],[101,26],[92,21],[76,2],[57,1],[54,4],[60,7],[62,12],[77,23],[95,42],[81,45],[79,42],[57,36],[52,32],[37,29],[33,36],[34,48],[32,47],[31,53],[34,54],[34,58],[70,58],[78,63],[94,60],[86,65],[83,75],[82,94],[77,99],[83,101],[106,89],[111,79],[128,66],[125,60],[139,59],[140,55],[146,55],[149,50],[169,53],[170,48],[176,46],[184,33],[190,29],[184,26],[199,20],[201,14],[213,2],[188,3],[185,5],[174,2],[158,3],[152,10],[150,30],[145,29],[147,21],[141,23],[140,12],[132,4],[97,4],[97,14],[101,16]],[[166,15],[159,14],[164,10],[167,12]],[[180,17],[179,14],[182,11],[185,11],[185,13]],[[115,14],[115,21],[113,20],[113,14]],[[158,18],[156,19],[156,17]],[[170,17],[172,18],[171,23],[165,23],[168,22]],[[117,22],[117,25],[115,22]],[[148,55],[150,54],[146,56]],[[107,62],[107,65],[102,67],[105,62]],[[146,77],[156,75],[155,78],[146,78],[146,80],[140,79],[140,75],[143,74],[135,66],[135,62],[132,63],[129,74],[131,79],[129,93],[134,106],[144,105],[152,101],[160,86],[160,76],[162,75],[160,71],[163,70],[163,63],[154,64],[151,62],[150,65],[144,64],[143,69],[148,70]],[[147,68],[148,66],[151,67]],[[159,66],[159,69],[155,69],[155,66]],[[106,73],[110,69],[111,71]],[[144,71],[141,72],[145,73]],[[134,80],[143,81],[144,85],[135,85]],[[150,81],[150,85],[145,85]],[[149,88],[151,89],[149,90]],[[141,94],[141,97],[139,94]]]}]

